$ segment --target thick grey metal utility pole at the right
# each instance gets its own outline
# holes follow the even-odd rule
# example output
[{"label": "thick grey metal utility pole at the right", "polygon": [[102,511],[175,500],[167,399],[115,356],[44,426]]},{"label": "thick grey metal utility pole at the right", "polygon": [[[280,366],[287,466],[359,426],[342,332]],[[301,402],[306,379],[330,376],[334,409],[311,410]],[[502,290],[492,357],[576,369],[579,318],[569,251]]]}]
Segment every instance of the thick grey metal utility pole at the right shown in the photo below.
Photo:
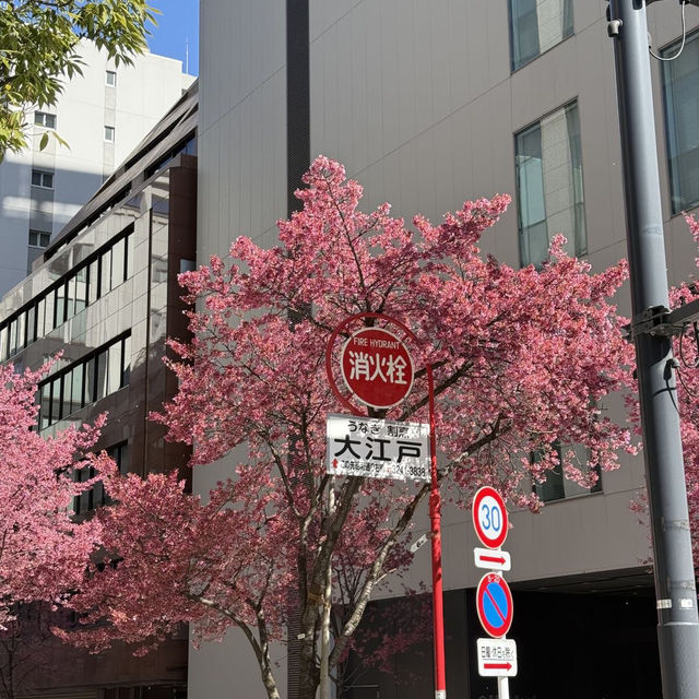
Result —
[{"label": "thick grey metal utility pole at the right", "polygon": [[699,618],[672,352],[644,0],[611,0],[664,699],[699,697]]}]

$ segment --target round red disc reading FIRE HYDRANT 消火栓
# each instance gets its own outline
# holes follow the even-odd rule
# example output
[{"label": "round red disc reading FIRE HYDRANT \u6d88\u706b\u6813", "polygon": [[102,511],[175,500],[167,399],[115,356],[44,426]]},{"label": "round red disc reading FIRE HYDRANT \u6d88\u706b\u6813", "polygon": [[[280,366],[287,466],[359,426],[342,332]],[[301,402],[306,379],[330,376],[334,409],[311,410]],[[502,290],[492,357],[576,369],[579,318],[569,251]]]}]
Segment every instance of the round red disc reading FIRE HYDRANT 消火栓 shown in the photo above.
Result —
[{"label": "round red disc reading FIRE HYDRANT \u6d88\u706b\u6813", "polygon": [[350,336],[340,358],[342,378],[357,400],[371,407],[391,407],[413,387],[413,360],[393,333],[364,328]]}]

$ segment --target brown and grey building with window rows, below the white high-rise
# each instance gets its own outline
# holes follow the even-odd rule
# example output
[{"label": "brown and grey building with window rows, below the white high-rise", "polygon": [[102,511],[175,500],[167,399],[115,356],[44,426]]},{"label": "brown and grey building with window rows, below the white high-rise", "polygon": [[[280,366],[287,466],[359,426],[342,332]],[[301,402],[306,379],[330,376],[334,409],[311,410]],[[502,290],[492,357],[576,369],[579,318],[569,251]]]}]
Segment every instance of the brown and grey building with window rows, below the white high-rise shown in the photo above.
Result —
[{"label": "brown and grey building with window rows, below the white high-rise", "polygon": [[[197,112],[194,83],[0,300],[1,360],[36,369],[62,353],[39,384],[39,431],[106,412],[97,448],[123,473],[169,472],[189,455],[149,414],[177,390],[165,339],[187,333],[177,275],[196,257]],[[82,516],[104,499],[95,486],[74,509]],[[58,642],[44,655],[51,670],[34,674],[32,696],[186,696],[186,629],[143,659],[126,647],[97,659]]]}]

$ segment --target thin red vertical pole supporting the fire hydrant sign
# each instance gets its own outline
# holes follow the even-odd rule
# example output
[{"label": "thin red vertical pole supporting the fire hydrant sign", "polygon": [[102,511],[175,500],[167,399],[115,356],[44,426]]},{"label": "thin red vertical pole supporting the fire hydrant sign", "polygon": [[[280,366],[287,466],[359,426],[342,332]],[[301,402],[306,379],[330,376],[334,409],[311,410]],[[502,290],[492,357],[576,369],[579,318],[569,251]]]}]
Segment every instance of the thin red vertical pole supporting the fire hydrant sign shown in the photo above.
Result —
[{"label": "thin red vertical pole supporting the fire hydrant sign", "polygon": [[429,522],[433,543],[433,623],[435,640],[435,699],[447,699],[445,668],[445,607],[441,584],[441,497],[437,479],[437,430],[435,425],[435,379],[433,367],[427,365],[429,393],[429,457],[431,489],[429,493]]}]

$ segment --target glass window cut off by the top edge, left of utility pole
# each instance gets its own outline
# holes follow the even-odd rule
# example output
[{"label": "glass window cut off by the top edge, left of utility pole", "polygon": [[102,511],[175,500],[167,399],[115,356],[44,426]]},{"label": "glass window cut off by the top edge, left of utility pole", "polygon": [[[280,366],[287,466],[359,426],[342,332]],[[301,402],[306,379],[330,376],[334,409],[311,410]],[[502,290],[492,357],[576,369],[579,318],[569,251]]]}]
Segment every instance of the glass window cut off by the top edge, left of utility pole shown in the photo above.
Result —
[{"label": "glass window cut off by the top edge, left of utility pole", "polygon": [[572,34],[572,0],[510,0],[512,70]]}]

